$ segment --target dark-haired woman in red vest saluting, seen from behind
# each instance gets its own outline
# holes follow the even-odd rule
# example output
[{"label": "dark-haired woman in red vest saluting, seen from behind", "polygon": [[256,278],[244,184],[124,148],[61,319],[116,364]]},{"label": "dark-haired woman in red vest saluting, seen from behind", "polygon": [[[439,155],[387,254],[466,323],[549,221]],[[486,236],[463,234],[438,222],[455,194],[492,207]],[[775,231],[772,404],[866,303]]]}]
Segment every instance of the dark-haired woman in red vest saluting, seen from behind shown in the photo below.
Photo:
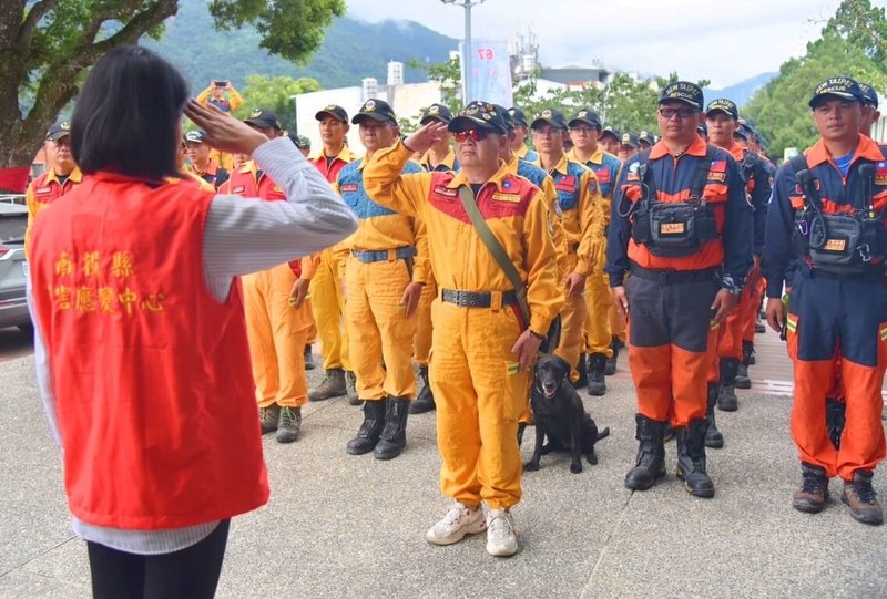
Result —
[{"label": "dark-haired woman in red vest saluting, seen from behind", "polygon": [[[186,105],[187,103],[187,105]],[[287,202],[185,185],[183,111]],[[236,277],[317,252],[351,211],[287,138],[187,102],[144,48],[92,69],[71,121],[78,189],[29,247],[38,381],[95,597],[212,597],[232,516],[268,484]]]}]

